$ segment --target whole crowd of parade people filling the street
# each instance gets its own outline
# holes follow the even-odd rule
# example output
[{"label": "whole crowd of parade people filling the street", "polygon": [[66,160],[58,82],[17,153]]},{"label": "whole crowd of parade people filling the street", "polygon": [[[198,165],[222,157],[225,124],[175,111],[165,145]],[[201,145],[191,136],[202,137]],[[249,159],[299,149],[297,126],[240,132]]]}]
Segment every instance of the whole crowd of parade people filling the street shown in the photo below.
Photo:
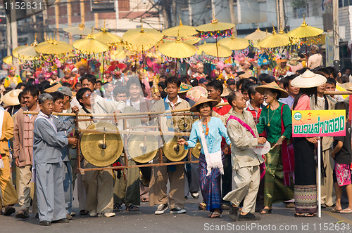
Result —
[{"label": "whole crowd of parade people filling the street", "polygon": [[[8,68],[0,86],[4,215],[15,213],[13,206],[18,204],[15,217],[30,218],[32,205],[40,225],[69,222],[76,215],[73,189],[77,189],[79,214],[90,217],[113,217],[123,204],[126,211],[139,211],[141,201],[158,205],[156,215],[168,208],[171,214],[186,213],[185,200],[189,195],[199,199],[200,193],[199,210],[210,211],[209,218],[220,218],[223,210],[229,210],[233,220],[259,220],[253,213],[270,214],[277,201],[295,208],[296,217],[313,217],[317,213],[317,156],[323,164],[322,208],[334,206],[332,212],[352,213],[348,121],[345,137],[322,138],[321,155],[316,150],[320,138],[292,138],[292,110],[346,109],[348,116],[349,97],[325,95],[325,91],[350,87],[349,69],[341,74],[334,67],[322,67],[318,46],[311,46],[310,52],[307,61],[296,53],[281,55],[275,66],[265,54],[258,60],[243,56],[237,65],[219,62],[207,74],[203,64],[191,64],[182,76],[172,65],[157,63],[144,69],[115,62],[99,76],[78,62],[65,66],[61,79],[57,72],[45,69],[27,71],[21,79],[15,68]],[[133,115],[177,109],[201,116],[192,124],[190,136],[177,141],[184,149],[196,147],[199,141],[199,163],[93,170],[84,175],[73,172],[78,164],[97,166],[87,159],[77,160],[77,138],[72,133],[75,118],[52,114]],[[175,122],[180,119],[163,116],[157,122],[151,115],[127,123],[130,127],[158,124],[161,132],[175,131],[176,124],[168,125],[170,117]],[[104,121],[95,116],[79,119],[81,129]],[[118,120],[111,123],[121,127]],[[163,142],[170,140],[163,135]],[[270,143],[270,152],[256,154],[253,147],[265,142]],[[124,153],[128,166],[138,164],[128,150]],[[158,161],[156,156],[151,163]],[[165,156],[163,162],[168,162]],[[344,186],[349,206],[342,209]]]}]

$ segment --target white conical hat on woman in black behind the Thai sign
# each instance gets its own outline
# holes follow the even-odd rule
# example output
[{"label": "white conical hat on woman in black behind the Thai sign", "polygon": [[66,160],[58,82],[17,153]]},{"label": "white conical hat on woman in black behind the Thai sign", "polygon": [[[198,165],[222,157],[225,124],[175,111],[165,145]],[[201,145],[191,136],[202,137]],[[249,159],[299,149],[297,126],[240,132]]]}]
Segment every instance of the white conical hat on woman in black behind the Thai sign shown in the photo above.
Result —
[{"label": "white conical hat on woman in black behind the Thai sign", "polygon": [[313,88],[327,82],[327,78],[321,74],[315,74],[309,69],[291,81],[291,85],[298,88]]}]

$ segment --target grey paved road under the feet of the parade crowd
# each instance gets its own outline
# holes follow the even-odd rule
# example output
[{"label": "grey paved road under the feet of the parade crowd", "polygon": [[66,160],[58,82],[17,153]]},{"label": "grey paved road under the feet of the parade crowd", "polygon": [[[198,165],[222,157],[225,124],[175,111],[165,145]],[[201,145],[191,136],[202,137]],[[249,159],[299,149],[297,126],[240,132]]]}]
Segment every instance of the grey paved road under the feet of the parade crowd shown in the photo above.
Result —
[{"label": "grey paved road under the feet of the parade crowd", "polygon": [[[121,211],[113,218],[90,218],[77,215],[69,224],[39,226],[39,220],[0,216],[0,232],[352,232],[352,214],[330,213],[325,208],[322,218],[295,218],[294,208],[275,204],[272,214],[261,215],[256,222],[233,222],[224,211],[222,218],[208,218],[208,211],[197,209],[200,199],[186,201],[187,213],[154,215],[156,206],[142,204],[140,211]],[[74,201],[74,211],[77,208]],[[19,206],[15,206],[19,210]],[[258,214],[258,213],[256,213]],[[337,223],[342,221],[341,223]],[[344,229],[343,229],[344,228]]]}]

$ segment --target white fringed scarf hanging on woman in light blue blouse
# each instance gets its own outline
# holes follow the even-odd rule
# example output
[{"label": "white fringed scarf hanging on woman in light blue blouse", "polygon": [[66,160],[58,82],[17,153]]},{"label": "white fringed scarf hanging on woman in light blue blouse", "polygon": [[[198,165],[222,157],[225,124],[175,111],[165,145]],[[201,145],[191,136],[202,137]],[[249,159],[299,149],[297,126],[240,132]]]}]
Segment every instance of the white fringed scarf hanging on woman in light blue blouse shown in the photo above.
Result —
[{"label": "white fringed scarf hanging on woman in light blue blouse", "polygon": [[203,152],[206,156],[206,176],[210,175],[211,168],[219,168],[220,174],[224,174],[224,166],[222,165],[221,150],[215,153],[208,152],[208,144],[206,143],[206,135],[204,134],[201,121],[198,121],[199,132],[201,133],[201,145],[203,145]]}]

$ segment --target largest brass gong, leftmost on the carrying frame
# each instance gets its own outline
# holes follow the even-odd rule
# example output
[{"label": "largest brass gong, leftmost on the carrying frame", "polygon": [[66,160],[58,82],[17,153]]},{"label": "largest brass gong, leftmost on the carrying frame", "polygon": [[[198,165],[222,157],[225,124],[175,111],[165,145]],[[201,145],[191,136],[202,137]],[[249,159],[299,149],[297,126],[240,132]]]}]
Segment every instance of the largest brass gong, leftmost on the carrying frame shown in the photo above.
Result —
[{"label": "largest brass gong, leftmost on the carrying frame", "polygon": [[[96,129],[96,133],[83,133],[80,140],[81,152],[84,159],[94,166],[110,166],[122,154],[122,140],[118,128],[106,121],[99,121],[88,126],[87,129]],[[115,131],[103,133],[104,131]]]}]

